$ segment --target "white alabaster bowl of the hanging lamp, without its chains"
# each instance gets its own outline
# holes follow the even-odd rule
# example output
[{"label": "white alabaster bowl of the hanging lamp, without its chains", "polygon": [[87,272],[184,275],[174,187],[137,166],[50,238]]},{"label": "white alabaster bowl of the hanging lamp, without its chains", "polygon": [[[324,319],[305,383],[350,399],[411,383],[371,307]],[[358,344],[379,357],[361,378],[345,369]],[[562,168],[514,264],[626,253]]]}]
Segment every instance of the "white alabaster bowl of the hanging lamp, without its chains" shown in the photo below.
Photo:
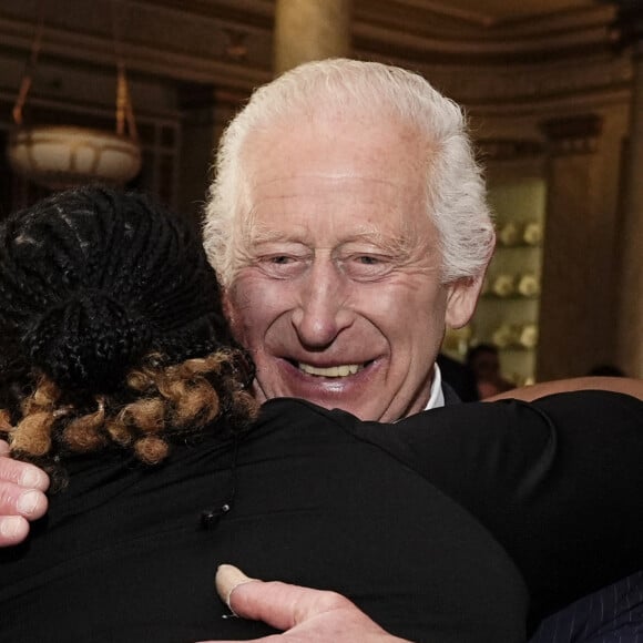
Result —
[{"label": "white alabaster bowl of the hanging lamp, without its chains", "polygon": [[90,127],[20,127],[11,134],[8,154],[16,172],[51,190],[94,181],[123,185],[141,170],[136,142]]}]

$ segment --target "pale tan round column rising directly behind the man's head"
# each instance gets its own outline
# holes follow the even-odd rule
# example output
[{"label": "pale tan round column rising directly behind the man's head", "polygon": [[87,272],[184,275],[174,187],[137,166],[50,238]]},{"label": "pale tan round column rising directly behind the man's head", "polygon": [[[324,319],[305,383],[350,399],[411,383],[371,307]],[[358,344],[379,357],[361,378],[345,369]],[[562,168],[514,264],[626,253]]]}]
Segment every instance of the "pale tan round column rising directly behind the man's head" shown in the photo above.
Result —
[{"label": "pale tan round column rising directly behind the man's head", "polygon": [[351,0],[277,0],[275,74],[303,62],[350,55]]}]

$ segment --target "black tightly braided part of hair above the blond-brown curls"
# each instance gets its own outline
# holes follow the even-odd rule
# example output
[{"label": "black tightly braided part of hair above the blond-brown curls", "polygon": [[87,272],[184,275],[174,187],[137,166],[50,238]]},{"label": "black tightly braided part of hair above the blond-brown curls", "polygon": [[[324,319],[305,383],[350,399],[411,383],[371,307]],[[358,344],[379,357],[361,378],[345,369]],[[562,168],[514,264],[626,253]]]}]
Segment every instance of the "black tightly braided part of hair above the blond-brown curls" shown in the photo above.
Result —
[{"label": "black tightly braided part of hair above the blond-brown curls", "polygon": [[61,388],[90,392],[118,387],[150,353],[178,363],[234,345],[190,223],[98,186],[2,223],[0,331]]}]

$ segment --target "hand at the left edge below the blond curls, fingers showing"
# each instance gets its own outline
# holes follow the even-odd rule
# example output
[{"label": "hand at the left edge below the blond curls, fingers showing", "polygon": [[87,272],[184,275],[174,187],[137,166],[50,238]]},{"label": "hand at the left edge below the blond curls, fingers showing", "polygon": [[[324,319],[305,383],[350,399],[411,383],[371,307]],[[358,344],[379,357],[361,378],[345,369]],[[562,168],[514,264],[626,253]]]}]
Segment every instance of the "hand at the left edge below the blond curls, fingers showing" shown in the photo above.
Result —
[{"label": "hand at the left edge below the blond curls, fingers showing", "polygon": [[30,520],[47,511],[47,473],[28,462],[8,458],[9,445],[0,440],[0,547],[22,542]]}]

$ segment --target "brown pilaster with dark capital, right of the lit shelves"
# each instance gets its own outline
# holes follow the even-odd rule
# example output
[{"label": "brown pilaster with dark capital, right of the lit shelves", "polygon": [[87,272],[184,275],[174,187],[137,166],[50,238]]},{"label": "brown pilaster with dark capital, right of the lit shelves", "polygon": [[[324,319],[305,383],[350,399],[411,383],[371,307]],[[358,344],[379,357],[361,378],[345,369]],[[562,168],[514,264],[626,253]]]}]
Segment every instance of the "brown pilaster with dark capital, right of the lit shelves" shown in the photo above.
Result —
[{"label": "brown pilaster with dark capital, right of the lit shelves", "polygon": [[598,114],[541,124],[548,196],[539,380],[584,375],[614,353],[616,217],[602,200],[602,124]]}]

